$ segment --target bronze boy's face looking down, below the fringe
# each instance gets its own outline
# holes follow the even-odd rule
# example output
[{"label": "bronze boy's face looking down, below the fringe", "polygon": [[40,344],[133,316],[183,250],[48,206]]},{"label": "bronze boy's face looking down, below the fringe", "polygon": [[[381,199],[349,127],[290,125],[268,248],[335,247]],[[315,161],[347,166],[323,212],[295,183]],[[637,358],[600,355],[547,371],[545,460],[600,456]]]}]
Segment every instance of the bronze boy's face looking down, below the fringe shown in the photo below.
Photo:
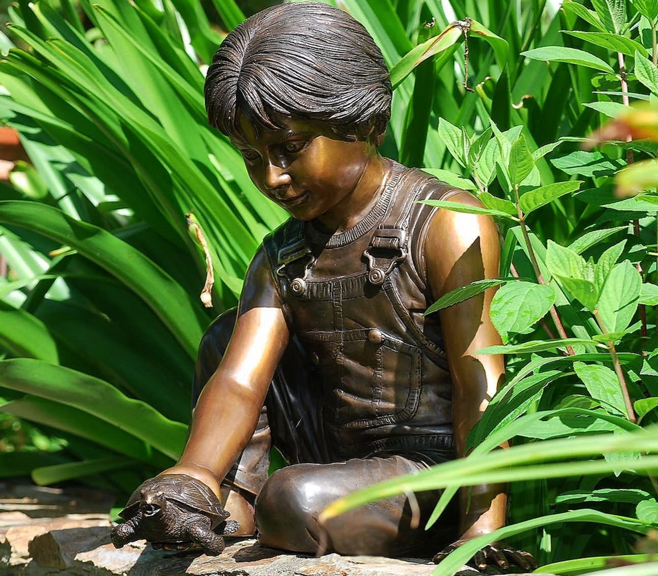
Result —
[{"label": "bronze boy's face looking down, below the fringe", "polygon": [[232,138],[249,177],[266,197],[297,219],[340,220],[343,202],[357,188],[376,153],[369,142],[338,140],[327,124],[285,119],[281,130],[259,130],[240,117],[241,136]]}]

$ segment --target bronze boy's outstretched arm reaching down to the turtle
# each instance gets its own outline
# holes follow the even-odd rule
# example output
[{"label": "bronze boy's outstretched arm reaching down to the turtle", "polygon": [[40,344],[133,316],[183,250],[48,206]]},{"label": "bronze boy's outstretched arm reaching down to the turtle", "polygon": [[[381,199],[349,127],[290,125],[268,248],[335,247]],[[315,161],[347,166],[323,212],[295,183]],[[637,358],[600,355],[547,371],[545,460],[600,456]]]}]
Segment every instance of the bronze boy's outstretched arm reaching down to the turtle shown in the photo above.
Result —
[{"label": "bronze boy's outstretched arm reaching down to the turtle", "polygon": [[290,332],[263,248],[245,276],[224,357],[199,396],[182,457],[163,473],[187,474],[220,497],[220,482],[255,430]]}]

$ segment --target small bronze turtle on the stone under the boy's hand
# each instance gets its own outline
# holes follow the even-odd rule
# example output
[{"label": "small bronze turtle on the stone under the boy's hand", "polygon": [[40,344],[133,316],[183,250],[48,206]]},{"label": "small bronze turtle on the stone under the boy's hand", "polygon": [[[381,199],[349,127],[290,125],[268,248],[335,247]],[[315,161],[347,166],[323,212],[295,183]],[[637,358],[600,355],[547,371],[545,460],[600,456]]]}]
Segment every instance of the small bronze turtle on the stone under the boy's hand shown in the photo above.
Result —
[{"label": "small bronze turtle on the stone under the boy's hand", "polygon": [[112,529],[116,548],[145,538],[154,548],[199,546],[216,556],[224,550],[222,535],[238,530],[238,522],[226,520],[215,493],[185,474],[163,474],[143,482],[120,511],[125,521]]}]

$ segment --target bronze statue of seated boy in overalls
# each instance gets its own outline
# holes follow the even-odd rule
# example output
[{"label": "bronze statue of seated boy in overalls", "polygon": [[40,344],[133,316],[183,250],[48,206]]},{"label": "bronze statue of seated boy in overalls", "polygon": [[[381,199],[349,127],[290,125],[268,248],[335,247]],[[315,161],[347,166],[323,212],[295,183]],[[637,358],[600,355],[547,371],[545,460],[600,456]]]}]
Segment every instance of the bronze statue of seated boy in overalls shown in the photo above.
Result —
[{"label": "bronze statue of seated boy in overalls", "polygon": [[[437,492],[415,495],[419,529],[404,495],[318,526],[335,498],[463,456],[504,375],[501,356],[475,353],[499,343],[491,292],[422,315],[442,294],[497,276],[498,234],[490,217],[417,203],[478,205],[379,155],[391,98],[365,28],[320,3],[255,14],[208,70],[210,124],[292,218],[253,258],[238,311],[201,342],[190,438],[165,473],[209,486],[240,533],[257,529],[266,546],[409,555],[505,521],[503,488],[484,485],[428,532]],[[290,466],[268,478],[272,445]],[[490,546],[477,562],[529,569],[532,558]]]}]

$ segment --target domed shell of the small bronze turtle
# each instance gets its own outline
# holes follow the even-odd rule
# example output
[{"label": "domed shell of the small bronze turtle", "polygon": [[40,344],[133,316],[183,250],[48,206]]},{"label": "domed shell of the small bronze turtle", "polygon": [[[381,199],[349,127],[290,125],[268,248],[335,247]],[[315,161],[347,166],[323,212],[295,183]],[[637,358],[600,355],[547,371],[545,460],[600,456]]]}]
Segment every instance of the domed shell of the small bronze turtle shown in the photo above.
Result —
[{"label": "domed shell of the small bronze turtle", "polygon": [[229,516],[215,496],[215,492],[203,482],[186,474],[163,474],[141,483],[130,496],[126,508],[119,512],[120,517],[127,520],[136,515],[142,492],[149,490],[159,490],[163,492],[166,500],[209,516],[213,525],[219,524]]}]

